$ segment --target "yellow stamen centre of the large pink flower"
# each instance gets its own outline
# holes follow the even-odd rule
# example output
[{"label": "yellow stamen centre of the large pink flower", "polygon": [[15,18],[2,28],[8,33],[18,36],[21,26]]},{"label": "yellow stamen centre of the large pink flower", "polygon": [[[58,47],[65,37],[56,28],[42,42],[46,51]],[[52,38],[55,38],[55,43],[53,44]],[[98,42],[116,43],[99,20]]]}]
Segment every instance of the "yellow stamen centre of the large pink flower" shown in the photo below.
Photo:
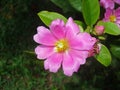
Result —
[{"label": "yellow stamen centre of the large pink flower", "polygon": [[66,39],[61,39],[55,43],[55,51],[56,52],[64,52],[68,49],[68,41]]}]

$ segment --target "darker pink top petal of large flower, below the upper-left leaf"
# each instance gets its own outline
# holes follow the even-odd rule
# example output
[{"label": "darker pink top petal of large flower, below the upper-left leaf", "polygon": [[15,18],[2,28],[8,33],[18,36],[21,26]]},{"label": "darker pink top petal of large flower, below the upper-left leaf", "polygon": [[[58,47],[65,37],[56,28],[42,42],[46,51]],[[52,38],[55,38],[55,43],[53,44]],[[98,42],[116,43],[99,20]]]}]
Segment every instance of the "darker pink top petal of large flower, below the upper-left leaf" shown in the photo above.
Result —
[{"label": "darker pink top petal of large flower, below the upper-left leaf", "polygon": [[65,36],[64,21],[60,19],[54,20],[50,25],[50,30],[58,39],[63,38]]}]

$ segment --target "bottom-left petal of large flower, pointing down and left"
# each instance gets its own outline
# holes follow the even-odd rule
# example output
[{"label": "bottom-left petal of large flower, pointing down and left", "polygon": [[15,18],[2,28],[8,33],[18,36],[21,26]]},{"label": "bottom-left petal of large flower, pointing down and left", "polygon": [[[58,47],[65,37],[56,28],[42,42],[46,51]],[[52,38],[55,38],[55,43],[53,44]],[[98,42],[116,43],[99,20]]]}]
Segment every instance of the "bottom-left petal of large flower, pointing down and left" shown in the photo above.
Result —
[{"label": "bottom-left petal of large flower, pointing down and left", "polygon": [[54,53],[44,62],[44,68],[49,69],[50,72],[57,72],[61,67],[61,62],[63,60],[63,54]]}]

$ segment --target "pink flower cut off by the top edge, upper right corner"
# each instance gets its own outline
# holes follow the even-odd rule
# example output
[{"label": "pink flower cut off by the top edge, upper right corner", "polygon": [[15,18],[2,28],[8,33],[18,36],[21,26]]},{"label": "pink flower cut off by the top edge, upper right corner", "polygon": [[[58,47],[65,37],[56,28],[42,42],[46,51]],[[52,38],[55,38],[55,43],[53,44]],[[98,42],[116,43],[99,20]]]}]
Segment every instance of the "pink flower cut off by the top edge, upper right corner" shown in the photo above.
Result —
[{"label": "pink flower cut off by the top edge, upper right corner", "polygon": [[100,0],[101,6],[105,9],[114,9],[115,3],[120,4],[120,0]]}]

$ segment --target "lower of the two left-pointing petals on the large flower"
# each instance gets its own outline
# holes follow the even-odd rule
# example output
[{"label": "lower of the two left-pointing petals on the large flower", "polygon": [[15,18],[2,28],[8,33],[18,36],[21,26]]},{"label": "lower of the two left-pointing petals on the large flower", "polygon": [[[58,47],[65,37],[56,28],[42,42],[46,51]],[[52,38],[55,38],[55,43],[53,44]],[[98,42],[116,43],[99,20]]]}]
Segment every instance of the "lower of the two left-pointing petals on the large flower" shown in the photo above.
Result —
[{"label": "lower of the two left-pointing petals on the large flower", "polygon": [[38,59],[46,59],[54,53],[53,47],[39,45],[35,48]]}]

